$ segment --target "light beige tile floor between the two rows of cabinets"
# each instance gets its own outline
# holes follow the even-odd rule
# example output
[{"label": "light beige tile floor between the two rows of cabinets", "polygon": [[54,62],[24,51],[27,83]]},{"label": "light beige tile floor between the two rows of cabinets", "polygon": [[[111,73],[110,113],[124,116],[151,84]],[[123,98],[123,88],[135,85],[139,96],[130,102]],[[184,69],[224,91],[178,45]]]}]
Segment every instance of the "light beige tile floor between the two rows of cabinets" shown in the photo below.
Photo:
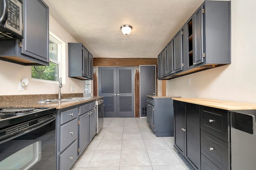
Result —
[{"label": "light beige tile floor between the two rows of cabinets", "polygon": [[174,137],[156,137],[146,117],[104,118],[71,170],[193,170],[174,148]]}]

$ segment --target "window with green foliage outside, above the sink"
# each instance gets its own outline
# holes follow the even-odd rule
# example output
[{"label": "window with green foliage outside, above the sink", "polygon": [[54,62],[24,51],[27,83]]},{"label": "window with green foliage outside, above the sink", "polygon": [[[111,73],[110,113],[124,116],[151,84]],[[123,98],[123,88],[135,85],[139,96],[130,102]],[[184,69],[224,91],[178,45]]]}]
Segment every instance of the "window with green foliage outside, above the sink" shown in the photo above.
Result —
[{"label": "window with green foliage outside, above the sink", "polygon": [[60,76],[60,58],[61,58],[61,42],[54,38],[52,35],[49,36],[49,66],[32,66],[31,77],[58,81]]}]

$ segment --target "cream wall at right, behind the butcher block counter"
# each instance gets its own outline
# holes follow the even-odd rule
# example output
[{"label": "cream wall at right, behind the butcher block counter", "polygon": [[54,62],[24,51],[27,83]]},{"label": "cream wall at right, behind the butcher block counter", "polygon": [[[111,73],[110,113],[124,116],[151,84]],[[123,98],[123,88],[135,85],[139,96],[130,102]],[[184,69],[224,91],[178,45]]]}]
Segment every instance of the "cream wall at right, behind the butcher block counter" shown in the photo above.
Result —
[{"label": "cream wall at right, behind the butcher block counter", "polygon": [[231,1],[231,64],[168,80],[168,95],[256,103],[255,6]]}]

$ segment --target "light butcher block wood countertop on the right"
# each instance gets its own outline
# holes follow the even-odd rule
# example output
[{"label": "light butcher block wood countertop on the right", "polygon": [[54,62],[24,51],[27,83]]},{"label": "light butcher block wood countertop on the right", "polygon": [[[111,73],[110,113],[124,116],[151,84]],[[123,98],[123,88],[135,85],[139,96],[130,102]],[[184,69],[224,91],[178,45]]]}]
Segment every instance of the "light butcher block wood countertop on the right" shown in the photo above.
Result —
[{"label": "light butcher block wood countertop on the right", "polygon": [[213,99],[202,99],[202,98],[173,98],[181,102],[187,102],[192,104],[198,104],[202,106],[215,107],[225,110],[250,110],[256,109],[256,104],[242,103],[242,102],[231,102],[225,100],[213,100]]}]

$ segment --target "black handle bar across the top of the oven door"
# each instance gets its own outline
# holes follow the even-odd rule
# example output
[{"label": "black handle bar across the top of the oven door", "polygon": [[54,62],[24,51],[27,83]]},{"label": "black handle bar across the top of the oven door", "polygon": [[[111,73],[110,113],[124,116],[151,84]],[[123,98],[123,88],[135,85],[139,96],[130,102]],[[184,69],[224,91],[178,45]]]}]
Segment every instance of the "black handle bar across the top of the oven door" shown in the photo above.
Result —
[{"label": "black handle bar across the top of the oven door", "polygon": [[16,137],[19,137],[21,135],[24,135],[26,133],[29,133],[31,131],[34,131],[44,125],[47,125],[48,123],[51,123],[52,121],[54,121],[56,119],[56,115],[54,114],[50,119],[47,119],[43,122],[39,122],[39,123],[36,123],[34,125],[31,125],[25,129],[22,129],[20,131],[16,131],[15,133],[10,133],[10,134],[6,134],[6,135],[3,135],[1,138],[0,138],[0,144],[1,143],[4,143],[6,141],[10,141]]}]

